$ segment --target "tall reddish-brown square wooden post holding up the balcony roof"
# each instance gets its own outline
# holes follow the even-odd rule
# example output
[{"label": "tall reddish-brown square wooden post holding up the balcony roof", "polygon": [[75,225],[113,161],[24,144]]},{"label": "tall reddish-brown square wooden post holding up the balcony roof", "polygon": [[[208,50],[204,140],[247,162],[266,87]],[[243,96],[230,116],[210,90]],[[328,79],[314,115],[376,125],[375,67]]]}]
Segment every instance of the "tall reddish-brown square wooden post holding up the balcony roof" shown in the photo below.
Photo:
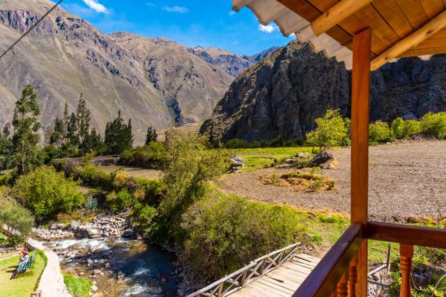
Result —
[{"label": "tall reddish-brown square wooden post holding up the balcony roof", "polygon": [[[351,91],[351,222],[367,227],[371,29],[353,35]],[[356,296],[367,296],[367,239],[357,254]]]}]

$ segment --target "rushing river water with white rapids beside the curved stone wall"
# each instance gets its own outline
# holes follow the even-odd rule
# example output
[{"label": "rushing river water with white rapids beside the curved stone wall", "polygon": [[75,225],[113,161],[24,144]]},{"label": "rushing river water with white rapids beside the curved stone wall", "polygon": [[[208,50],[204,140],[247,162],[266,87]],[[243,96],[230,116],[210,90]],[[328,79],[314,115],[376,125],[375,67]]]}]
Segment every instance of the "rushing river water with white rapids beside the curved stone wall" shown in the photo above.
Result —
[{"label": "rushing river water with white rapids beside the curved stone wall", "polygon": [[[178,278],[174,276],[175,256],[140,241],[117,239],[66,239],[48,243],[54,252],[77,252],[75,259],[61,257],[61,266],[67,273],[88,278],[94,269],[98,291],[105,296],[176,296]],[[89,250],[94,250],[87,255]],[[87,260],[93,264],[87,264]]]}]

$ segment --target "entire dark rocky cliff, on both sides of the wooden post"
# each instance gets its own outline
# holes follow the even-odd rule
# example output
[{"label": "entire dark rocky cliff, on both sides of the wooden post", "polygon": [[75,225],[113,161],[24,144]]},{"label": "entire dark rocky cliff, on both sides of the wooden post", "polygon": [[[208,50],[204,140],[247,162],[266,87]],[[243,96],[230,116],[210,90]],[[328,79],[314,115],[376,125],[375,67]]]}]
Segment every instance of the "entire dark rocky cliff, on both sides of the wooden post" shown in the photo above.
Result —
[{"label": "entire dark rocky cliff, on both sides of the wooden post", "polygon": [[[405,58],[372,74],[371,120],[419,118],[446,111],[446,56]],[[350,116],[351,72],[298,41],[249,68],[232,83],[201,133],[213,140],[305,136],[327,109]]]}]

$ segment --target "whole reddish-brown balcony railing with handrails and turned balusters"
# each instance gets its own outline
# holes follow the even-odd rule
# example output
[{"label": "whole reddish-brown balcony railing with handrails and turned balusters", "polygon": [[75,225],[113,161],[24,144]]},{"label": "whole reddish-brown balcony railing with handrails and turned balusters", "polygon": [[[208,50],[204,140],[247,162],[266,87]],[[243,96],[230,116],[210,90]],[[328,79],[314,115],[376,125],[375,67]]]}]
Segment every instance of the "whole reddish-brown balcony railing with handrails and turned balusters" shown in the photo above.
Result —
[{"label": "whole reddish-brown balcony railing with handrails and turned balusters", "polygon": [[364,229],[352,223],[293,296],[356,296],[357,265],[367,266],[357,263],[356,253],[363,240],[374,239],[400,244],[400,296],[409,297],[413,246],[446,248],[445,229],[376,222],[368,222]]}]

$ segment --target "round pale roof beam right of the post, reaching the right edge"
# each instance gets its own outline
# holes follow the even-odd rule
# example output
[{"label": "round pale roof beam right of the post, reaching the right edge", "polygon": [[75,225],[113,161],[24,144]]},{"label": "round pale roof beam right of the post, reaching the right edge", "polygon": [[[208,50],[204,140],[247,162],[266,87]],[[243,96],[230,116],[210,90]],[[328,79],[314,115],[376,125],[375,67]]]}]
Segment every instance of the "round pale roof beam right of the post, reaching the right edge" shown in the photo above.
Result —
[{"label": "round pale roof beam right of the post, reaching the right edge", "polygon": [[382,54],[374,58],[370,63],[370,70],[377,70],[379,67],[399,57],[405,51],[412,47],[420,45],[421,42],[429,38],[431,35],[437,33],[446,26],[446,10],[439,13],[436,17],[424,24],[420,29],[411,33],[406,38],[399,40],[399,42],[392,45],[392,47],[386,49]]}]

